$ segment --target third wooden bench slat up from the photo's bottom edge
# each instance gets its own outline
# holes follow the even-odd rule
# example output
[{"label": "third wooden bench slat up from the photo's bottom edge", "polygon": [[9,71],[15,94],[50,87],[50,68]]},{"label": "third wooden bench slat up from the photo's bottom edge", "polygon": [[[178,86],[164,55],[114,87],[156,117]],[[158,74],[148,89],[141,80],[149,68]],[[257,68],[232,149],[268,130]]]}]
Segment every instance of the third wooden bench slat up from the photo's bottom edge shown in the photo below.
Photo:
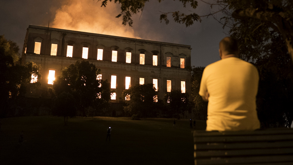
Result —
[{"label": "third wooden bench slat up from the photo's bottom edge", "polygon": [[248,148],[281,148],[293,147],[293,141],[278,142],[235,142],[235,143],[196,143],[195,150],[211,150],[211,149],[248,149]]}]

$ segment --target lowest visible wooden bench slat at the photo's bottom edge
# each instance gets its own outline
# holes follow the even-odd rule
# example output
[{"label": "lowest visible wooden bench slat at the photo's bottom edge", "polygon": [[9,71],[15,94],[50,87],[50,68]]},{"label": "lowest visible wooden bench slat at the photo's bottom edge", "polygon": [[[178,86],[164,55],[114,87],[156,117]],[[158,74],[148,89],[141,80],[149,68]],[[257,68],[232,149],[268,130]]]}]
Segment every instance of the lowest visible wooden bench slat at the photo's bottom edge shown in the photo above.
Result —
[{"label": "lowest visible wooden bench slat at the photo's bottom edge", "polygon": [[231,158],[212,158],[212,159],[195,159],[195,165],[213,165],[213,164],[252,164],[252,163],[277,163],[292,162],[292,155],[277,156],[258,156],[258,157],[231,157]]}]

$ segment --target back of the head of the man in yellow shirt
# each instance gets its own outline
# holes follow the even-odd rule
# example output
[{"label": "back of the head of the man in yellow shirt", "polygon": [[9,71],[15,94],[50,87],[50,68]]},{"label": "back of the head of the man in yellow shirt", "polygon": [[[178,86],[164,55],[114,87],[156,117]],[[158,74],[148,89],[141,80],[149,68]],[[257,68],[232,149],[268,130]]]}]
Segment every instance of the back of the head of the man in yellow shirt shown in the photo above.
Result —
[{"label": "back of the head of the man in yellow shirt", "polygon": [[236,39],[232,37],[225,37],[220,41],[219,50],[222,51],[223,55],[234,54],[238,56],[239,49]]}]

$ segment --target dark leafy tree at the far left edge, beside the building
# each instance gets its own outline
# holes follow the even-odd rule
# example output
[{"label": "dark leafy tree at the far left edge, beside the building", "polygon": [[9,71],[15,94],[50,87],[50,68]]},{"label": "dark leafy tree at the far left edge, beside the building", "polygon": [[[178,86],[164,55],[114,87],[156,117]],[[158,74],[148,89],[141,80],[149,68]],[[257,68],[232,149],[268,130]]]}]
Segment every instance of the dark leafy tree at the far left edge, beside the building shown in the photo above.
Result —
[{"label": "dark leafy tree at the far left edge, beside the building", "polygon": [[41,78],[40,66],[28,62],[18,63],[18,46],[0,36],[0,116],[5,116],[9,104],[25,94],[25,85],[30,83],[32,74]]}]

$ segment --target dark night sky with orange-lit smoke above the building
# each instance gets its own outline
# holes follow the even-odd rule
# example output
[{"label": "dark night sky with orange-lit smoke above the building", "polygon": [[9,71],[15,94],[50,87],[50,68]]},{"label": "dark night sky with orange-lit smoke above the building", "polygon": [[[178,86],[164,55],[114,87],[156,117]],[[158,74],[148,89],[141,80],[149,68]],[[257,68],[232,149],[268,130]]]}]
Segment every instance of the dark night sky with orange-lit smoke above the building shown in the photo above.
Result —
[{"label": "dark night sky with orange-lit smoke above the building", "polygon": [[[198,15],[210,12],[209,5],[201,1],[198,4],[195,9]],[[121,25],[122,19],[115,18],[120,10],[113,3],[100,8],[96,0],[2,0],[0,35],[15,41],[22,50],[28,25],[47,27],[50,20],[49,26],[55,28],[190,45],[192,66],[207,66],[218,61],[218,43],[226,36],[222,25],[212,17],[204,17],[201,23],[195,22],[190,27],[174,23],[171,17],[168,25],[160,23],[161,12],[171,11],[190,13],[194,10],[183,8],[177,1],[147,2],[142,13],[132,16],[134,24],[129,27]]]}]

